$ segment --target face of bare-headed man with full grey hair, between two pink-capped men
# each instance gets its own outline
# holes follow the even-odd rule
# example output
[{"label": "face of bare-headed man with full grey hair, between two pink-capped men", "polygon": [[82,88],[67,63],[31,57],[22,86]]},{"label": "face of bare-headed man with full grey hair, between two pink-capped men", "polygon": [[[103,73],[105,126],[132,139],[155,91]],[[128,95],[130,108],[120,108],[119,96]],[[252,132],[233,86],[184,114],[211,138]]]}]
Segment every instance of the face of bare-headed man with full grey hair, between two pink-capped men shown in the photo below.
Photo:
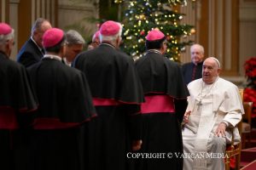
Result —
[{"label": "face of bare-headed man with full grey hair, between two pink-capped men", "polygon": [[65,57],[68,62],[72,63],[73,59],[83,51],[83,44],[67,45],[65,49]]}]

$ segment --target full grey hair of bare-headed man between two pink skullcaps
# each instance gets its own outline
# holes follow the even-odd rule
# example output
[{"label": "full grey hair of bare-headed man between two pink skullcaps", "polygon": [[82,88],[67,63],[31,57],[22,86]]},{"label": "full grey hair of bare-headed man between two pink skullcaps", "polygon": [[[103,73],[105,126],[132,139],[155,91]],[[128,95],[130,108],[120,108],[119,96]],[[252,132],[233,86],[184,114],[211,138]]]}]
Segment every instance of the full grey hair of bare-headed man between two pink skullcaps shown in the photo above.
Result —
[{"label": "full grey hair of bare-headed man between two pink skullcaps", "polygon": [[84,44],[84,38],[79,34],[78,31],[69,30],[66,33],[67,36],[67,45],[74,45],[74,44]]}]

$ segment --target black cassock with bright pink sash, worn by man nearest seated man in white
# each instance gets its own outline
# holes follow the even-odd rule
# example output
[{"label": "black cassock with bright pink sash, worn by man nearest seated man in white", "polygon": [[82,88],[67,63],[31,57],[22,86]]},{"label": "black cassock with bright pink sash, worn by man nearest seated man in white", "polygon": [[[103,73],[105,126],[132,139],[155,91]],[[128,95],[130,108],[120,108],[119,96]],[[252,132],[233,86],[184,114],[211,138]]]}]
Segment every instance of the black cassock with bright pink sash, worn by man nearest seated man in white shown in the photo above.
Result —
[{"label": "black cassock with bright pink sash, worn by man nearest seated man in white", "polygon": [[[154,154],[137,161],[137,168],[182,169],[183,159],[177,159],[175,153],[183,153],[180,123],[189,91],[183,82],[180,66],[158,51],[148,51],[137,60],[136,68],[146,99],[142,105],[143,145],[138,152]],[[156,155],[160,153],[163,154]]]}]

